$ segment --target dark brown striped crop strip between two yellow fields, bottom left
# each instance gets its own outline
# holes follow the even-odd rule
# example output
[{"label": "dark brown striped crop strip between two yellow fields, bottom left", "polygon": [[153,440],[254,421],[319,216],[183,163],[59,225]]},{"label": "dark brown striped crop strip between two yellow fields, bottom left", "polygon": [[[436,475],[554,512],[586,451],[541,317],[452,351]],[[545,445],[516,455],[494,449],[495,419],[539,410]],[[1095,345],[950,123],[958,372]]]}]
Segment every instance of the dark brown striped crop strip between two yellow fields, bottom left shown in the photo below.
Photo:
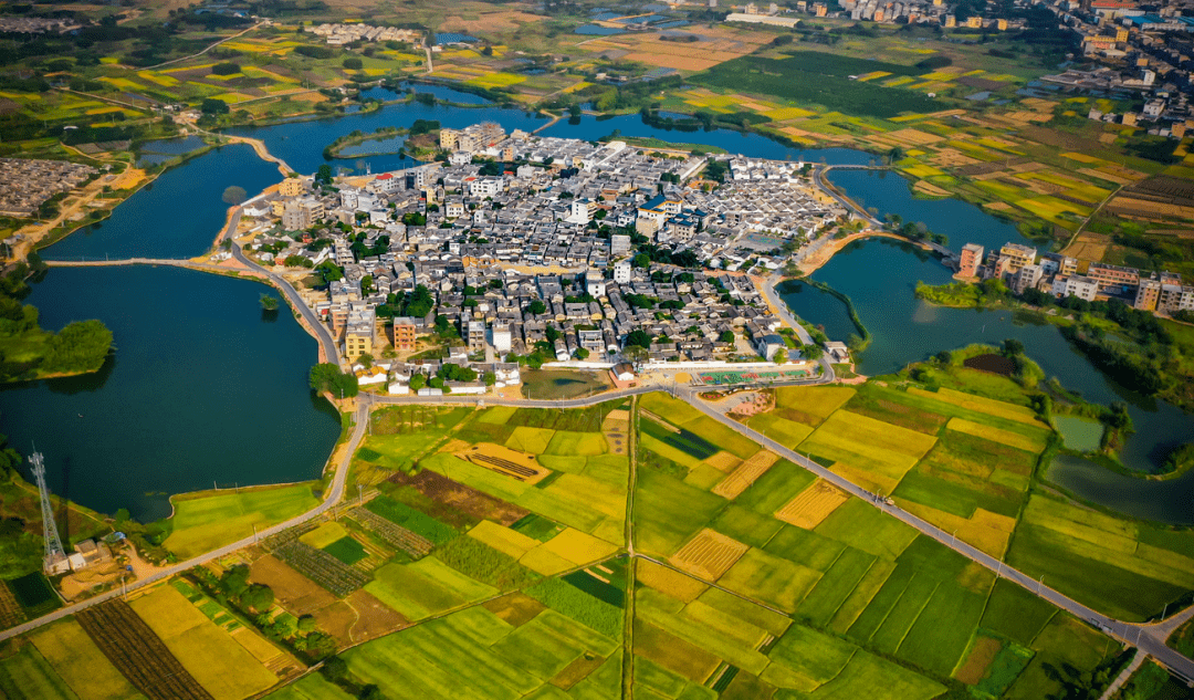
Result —
[{"label": "dark brown striped crop strip between two yellow fields, bottom left", "polygon": [[213,700],[124,601],[93,606],[76,619],[112,665],[149,700]]}]

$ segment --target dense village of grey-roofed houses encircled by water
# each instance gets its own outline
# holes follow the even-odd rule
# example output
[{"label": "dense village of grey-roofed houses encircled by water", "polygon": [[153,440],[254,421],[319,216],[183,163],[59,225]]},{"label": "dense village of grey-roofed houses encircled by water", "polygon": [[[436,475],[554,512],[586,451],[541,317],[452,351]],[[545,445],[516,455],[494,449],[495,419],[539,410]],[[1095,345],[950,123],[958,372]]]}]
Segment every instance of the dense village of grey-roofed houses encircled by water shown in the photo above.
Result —
[{"label": "dense village of grey-roofed houses encircled by water", "polygon": [[[614,383],[648,363],[820,372],[821,345],[759,288],[781,248],[848,222],[804,164],[496,124],[443,129],[439,145],[445,162],[289,178],[242,209],[246,252],[320,282],[303,299],[361,385],[485,393],[517,385],[528,356],[608,369]],[[727,184],[701,177],[710,170]]]}]

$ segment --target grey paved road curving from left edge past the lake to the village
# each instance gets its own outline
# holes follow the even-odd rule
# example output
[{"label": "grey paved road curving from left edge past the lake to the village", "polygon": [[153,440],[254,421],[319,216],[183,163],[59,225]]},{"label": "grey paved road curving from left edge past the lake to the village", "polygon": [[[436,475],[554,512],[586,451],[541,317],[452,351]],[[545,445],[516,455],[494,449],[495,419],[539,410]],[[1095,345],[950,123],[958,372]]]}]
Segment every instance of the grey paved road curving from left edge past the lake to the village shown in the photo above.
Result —
[{"label": "grey paved road curving from left edge past the lake to the village", "polygon": [[[166,578],[170,578],[171,576],[181,573],[181,572],[184,572],[187,569],[191,569],[193,566],[199,566],[201,564],[205,564],[205,563],[208,563],[208,561],[210,561],[213,559],[217,559],[220,557],[226,557],[226,555],[232,554],[233,552],[235,552],[238,549],[242,549],[242,548],[252,545],[259,538],[265,538],[265,536],[269,536],[269,535],[273,535],[273,534],[281,533],[282,530],[284,530],[287,528],[293,528],[293,527],[295,527],[297,524],[302,524],[302,523],[307,522],[308,520],[310,520],[313,517],[319,517],[320,515],[322,515],[324,512],[326,512],[328,509],[331,509],[332,506],[334,506],[340,501],[341,496],[344,496],[344,483],[345,483],[345,480],[349,477],[349,463],[352,461],[352,454],[357,450],[357,447],[361,444],[361,440],[364,438],[364,436],[365,436],[365,428],[368,426],[368,420],[369,420],[369,400],[365,399],[365,400],[361,401],[361,406],[357,409],[357,412],[356,412],[357,425],[356,425],[356,428],[352,431],[352,436],[349,438],[347,452],[344,453],[344,459],[341,459],[340,463],[336,466],[336,477],[332,479],[331,490],[328,490],[327,495],[324,497],[324,502],[320,503],[319,505],[316,505],[314,509],[308,510],[307,512],[304,512],[304,514],[302,514],[300,516],[293,517],[293,518],[288,520],[287,522],[278,523],[278,524],[276,524],[276,526],[273,526],[271,528],[266,528],[266,529],[257,533],[256,536],[245,538],[244,540],[240,540],[238,542],[233,542],[230,545],[220,547],[219,549],[214,549],[211,552],[208,552],[207,554],[201,554],[201,555],[198,555],[198,557],[196,557],[193,559],[189,559],[186,561],[181,561],[179,564],[174,564],[173,566],[162,569],[161,571],[158,571],[156,573],[153,573],[152,576],[148,576],[146,578],[142,578],[140,581],[130,583],[127,587],[127,590],[136,590],[139,588],[149,585],[152,583],[156,583],[159,581],[164,581]],[[79,610],[90,608],[92,606],[97,606],[97,604],[99,604],[99,603],[101,603],[104,601],[111,600],[111,598],[117,597],[119,595],[122,595],[122,590],[117,588],[117,589],[110,590],[110,591],[107,591],[105,594],[100,594],[100,595],[98,595],[98,596],[96,596],[93,598],[88,598],[86,601],[82,601],[80,603],[75,603],[73,606],[67,606],[64,608],[60,608],[60,609],[50,613],[49,615],[43,615],[43,616],[41,616],[41,618],[36,619],[36,620],[31,620],[29,622],[25,622],[24,625],[18,625],[16,627],[12,627],[11,630],[5,630],[4,632],[0,632],[0,641],[4,641],[5,639],[8,639],[11,637],[16,637],[18,634],[24,634],[25,632],[29,632],[31,630],[36,630],[37,627],[41,627],[42,625],[48,625],[48,624],[50,624],[50,622],[53,622],[55,620],[61,620],[62,618],[66,618],[67,615],[73,615],[73,614],[78,613]]]}]

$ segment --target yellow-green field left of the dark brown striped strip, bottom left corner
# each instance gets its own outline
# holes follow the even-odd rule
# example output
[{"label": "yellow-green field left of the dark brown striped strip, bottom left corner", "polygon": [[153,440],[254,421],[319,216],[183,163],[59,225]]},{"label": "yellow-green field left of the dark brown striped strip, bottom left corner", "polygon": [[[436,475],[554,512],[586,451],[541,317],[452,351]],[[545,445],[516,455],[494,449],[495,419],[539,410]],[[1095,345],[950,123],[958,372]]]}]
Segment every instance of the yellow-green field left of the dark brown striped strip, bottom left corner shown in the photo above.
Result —
[{"label": "yellow-green field left of the dark brown striped strip, bottom left corner", "polygon": [[29,639],[79,698],[123,700],[137,695],[73,618],[42,627]]}]

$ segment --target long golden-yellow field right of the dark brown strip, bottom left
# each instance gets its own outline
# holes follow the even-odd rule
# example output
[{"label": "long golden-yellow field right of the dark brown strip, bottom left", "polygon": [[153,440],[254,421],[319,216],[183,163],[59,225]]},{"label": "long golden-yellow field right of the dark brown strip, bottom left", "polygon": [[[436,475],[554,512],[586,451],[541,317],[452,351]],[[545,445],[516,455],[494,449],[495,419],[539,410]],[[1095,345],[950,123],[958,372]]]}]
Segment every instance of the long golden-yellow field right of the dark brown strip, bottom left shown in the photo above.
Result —
[{"label": "long golden-yellow field right of the dark brown strip, bottom left", "polygon": [[173,587],[160,587],[129,604],[215,700],[241,700],[277,682],[277,676]]}]

